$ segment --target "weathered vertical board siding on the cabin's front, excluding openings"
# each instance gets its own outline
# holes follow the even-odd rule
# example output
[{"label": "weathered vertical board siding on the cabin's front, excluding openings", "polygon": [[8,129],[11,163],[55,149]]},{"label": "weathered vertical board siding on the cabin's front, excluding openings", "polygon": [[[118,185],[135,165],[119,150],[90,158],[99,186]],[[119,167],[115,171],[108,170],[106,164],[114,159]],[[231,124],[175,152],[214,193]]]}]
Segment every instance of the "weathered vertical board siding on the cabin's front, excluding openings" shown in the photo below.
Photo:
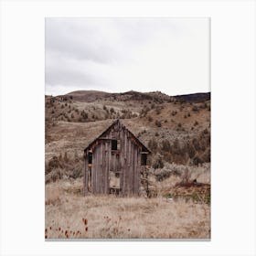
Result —
[{"label": "weathered vertical board siding on the cabin's front, excluding openings", "polygon": [[[112,150],[112,140],[119,140],[120,148]],[[142,146],[122,123],[115,123],[91,146],[91,192],[108,194],[110,172],[119,173],[121,195],[138,195],[141,184]],[[87,157],[86,157],[87,159]],[[85,161],[84,186],[88,186],[88,161]]]}]

